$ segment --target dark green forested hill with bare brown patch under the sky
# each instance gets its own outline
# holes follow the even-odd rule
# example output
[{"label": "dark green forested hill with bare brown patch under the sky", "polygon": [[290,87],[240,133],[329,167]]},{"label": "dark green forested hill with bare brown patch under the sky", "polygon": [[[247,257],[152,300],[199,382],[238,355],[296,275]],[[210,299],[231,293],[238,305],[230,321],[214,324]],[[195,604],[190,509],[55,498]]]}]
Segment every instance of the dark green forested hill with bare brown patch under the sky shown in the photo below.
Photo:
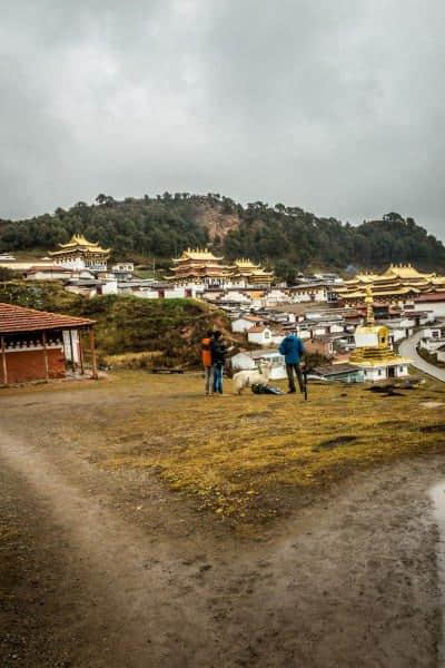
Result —
[{"label": "dark green forested hill with bare brown patch under the sky", "polygon": [[261,202],[241,206],[217,194],[165,193],[123,200],[99,195],[93,205],[79,202],[53,214],[1,220],[0,252],[55,248],[73,233],[112,247],[116,258],[156,257],[166,266],[184,248],[209,245],[229,259],[266,263],[284,278],[309,266],[382,268],[412,262],[424,269],[445,269],[444,245],[395,213],[354,227],[298,207]]}]

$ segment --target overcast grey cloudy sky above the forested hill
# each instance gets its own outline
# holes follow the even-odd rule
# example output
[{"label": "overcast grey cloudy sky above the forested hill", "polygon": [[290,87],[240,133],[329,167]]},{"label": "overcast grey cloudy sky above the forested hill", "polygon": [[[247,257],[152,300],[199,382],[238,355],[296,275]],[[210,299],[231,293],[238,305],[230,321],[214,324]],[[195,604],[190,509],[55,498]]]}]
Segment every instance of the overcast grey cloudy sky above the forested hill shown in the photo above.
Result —
[{"label": "overcast grey cloudy sky above the forested hill", "polygon": [[445,239],[443,0],[0,7],[0,217],[217,191]]}]

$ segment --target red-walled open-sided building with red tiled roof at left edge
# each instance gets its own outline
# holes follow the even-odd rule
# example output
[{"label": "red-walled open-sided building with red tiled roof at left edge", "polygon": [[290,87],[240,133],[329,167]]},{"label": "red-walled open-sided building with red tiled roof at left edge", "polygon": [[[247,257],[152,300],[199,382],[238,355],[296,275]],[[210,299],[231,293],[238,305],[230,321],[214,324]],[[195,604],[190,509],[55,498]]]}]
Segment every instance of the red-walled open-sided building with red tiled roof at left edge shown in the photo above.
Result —
[{"label": "red-walled open-sided building with red tiled roof at left edge", "polygon": [[67,362],[85,373],[80,332],[88,332],[91,375],[97,377],[95,321],[0,303],[0,383],[63,377]]}]

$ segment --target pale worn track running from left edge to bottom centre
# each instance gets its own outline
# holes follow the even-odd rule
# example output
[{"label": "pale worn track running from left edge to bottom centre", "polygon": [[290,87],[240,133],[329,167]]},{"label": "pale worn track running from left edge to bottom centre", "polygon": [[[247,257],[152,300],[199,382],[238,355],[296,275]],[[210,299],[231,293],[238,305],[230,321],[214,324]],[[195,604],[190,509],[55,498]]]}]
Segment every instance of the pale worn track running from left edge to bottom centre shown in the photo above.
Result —
[{"label": "pale worn track running from left edge to bottom centre", "polygon": [[[154,558],[152,544],[141,531],[126,527],[98,501],[83,497],[51,462],[19,439],[1,434],[0,452],[24,478],[40,512],[52,517],[52,531],[59,533],[61,548],[67,546],[70,568],[87,582],[89,601],[79,611],[85,616],[85,637],[95,628],[102,641],[96,657],[87,642],[87,655],[79,656],[76,665],[197,665],[210,638],[208,631],[207,638],[197,632],[204,626],[205,610],[186,593],[190,567],[181,570],[178,561],[159,552],[159,546]],[[204,571],[197,569],[199,578]],[[72,601],[66,602],[76,606],[76,582]]]}]

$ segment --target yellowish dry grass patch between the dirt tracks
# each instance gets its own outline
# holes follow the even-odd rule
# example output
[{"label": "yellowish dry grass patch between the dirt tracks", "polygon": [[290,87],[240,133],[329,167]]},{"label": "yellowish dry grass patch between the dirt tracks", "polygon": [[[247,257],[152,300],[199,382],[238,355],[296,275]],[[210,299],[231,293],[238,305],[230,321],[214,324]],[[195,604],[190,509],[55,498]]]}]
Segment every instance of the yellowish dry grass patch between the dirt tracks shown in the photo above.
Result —
[{"label": "yellowish dry grass patch between the dirt tracks", "polygon": [[[445,451],[445,386],[433,381],[392,397],[364,385],[313,385],[305,403],[299,394],[238,397],[231,381],[225,396],[206,397],[198,374],[117,377],[69,438],[80,430],[98,465],[148,468],[219,517],[270,517],[285,498],[357,469]],[[112,407],[100,392],[112,392]]]}]

